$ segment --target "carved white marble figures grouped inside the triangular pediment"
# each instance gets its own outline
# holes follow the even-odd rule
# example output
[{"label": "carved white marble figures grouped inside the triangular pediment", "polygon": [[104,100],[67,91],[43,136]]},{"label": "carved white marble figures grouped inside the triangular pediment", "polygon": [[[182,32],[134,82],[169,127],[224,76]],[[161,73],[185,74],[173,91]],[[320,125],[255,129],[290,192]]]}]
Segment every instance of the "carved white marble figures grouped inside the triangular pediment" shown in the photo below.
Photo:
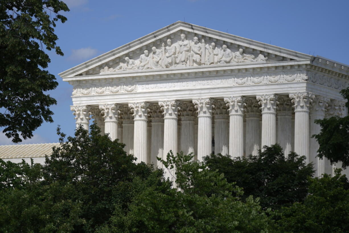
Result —
[{"label": "carved white marble figures grouped inside the triangular pediment", "polygon": [[125,57],[125,62],[120,62],[115,69],[105,66],[101,72],[161,69],[176,66],[237,64],[260,62],[268,59],[262,54],[259,54],[257,57],[244,54],[243,49],[232,52],[225,44],[222,48],[218,48],[214,42],[209,45],[202,40],[200,43],[196,36],[193,38],[193,41],[187,40],[185,34],[181,34],[180,38],[181,40],[177,42],[177,45],[172,44],[171,39],[168,39],[167,46],[162,43],[161,49],[153,47],[150,52],[144,50],[144,53],[136,60]]}]

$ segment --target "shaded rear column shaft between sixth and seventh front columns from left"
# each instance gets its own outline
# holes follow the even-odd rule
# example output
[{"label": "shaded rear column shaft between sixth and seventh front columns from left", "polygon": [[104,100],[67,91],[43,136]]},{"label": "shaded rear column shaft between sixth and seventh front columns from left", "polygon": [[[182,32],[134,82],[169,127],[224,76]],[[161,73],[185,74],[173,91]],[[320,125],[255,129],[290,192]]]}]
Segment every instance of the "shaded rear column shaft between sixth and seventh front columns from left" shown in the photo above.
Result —
[{"label": "shaded rear column shaft between sixth and seventh front columns from left", "polygon": [[261,142],[260,113],[246,113],[246,155],[258,155]]}]

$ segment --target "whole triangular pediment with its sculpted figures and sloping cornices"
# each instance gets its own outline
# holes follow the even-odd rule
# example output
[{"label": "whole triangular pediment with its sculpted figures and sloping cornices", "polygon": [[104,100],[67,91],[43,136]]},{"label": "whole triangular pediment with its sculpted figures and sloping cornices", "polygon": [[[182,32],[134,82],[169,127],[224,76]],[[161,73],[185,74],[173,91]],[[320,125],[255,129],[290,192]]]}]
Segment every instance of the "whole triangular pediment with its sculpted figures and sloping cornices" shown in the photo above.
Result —
[{"label": "whole triangular pediment with its sculpted figures and sloping cornices", "polygon": [[[181,37],[182,34],[185,38]],[[168,43],[169,40],[171,43]],[[178,21],[59,75],[66,78],[166,68],[307,60],[311,57],[275,45]]]}]

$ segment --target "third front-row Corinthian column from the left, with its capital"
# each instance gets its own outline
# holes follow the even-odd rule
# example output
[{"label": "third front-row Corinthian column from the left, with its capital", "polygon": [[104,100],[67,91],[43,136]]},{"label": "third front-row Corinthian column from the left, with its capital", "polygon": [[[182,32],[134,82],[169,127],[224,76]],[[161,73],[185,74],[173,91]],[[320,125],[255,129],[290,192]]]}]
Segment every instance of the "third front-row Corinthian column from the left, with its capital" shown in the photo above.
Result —
[{"label": "third front-row Corinthian column from the left, with its capital", "polygon": [[128,104],[131,108],[134,117],[134,134],[133,134],[133,153],[137,158],[138,163],[148,162],[147,147],[148,147],[148,133],[147,133],[147,123],[148,123],[148,107],[149,103],[133,103]]}]

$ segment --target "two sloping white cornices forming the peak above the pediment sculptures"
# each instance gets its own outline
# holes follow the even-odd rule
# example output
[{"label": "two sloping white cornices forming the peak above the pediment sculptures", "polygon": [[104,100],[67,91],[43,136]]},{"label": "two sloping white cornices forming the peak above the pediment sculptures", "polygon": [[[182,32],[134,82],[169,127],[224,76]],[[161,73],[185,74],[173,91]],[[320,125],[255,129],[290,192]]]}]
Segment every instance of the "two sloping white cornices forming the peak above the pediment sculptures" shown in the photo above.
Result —
[{"label": "two sloping white cornices forming the peak above the pediment sculptures", "polygon": [[[313,57],[311,55],[303,54],[301,52],[297,52],[294,50],[281,48],[281,47],[278,47],[276,45],[271,45],[271,44],[266,44],[266,43],[262,43],[259,41],[254,41],[254,40],[251,40],[248,38],[232,35],[229,33],[224,33],[221,31],[198,26],[195,24],[190,24],[187,22],[177,21],[175,23],[170,24],[169,26],[158,29],[158,30],[156,30],[148,35],[140,37],[140,38],[138,38],[132,42],[129,42],[127,44],[121,45],[120,47],[118,47],[116,49],[113,49],[109,52],[106,52],[102,55],[99,55],[95,58],[92,58],[84,63],[76,65],[73,68],[70,68],[66,71],[59,73],[58,75],[62,78],[67,77],[67,76],[72,76],[74,73],[80,72],[84,68],[89,68],[91,65],[93,65],[95,63],[98,63],[98,62],[104,63],[104,62],[106,62],[105,60],[111,58],[112,56],[115,56],[115,55],[118,55],[122,52],[125,52],[128,49],[132,49],[135,46],[141,45],[142,43],[147,42],[149,40],[154,40],[158,37],[162,37],[165,32],[169,32],[169,31],[172,31],[174,29],[181,28],[181,27],[183,27],[182,28],[183,30],[198,31],[202,35],[211,35],[211,36],[213,35],[213,36],[224,37],[224,38],[232,40],[234,43],[237,43],[237,44],[240,44],[240,45],[243,45],[246,47],[256,48],[256,49],[259,49],[262,51],[270,52],[272,54],[275,54],[275,52],[279,52],[280,54],[289,55],[292,57],[298,57],[300,59],[311,59],[311,57]],[[83,72],[83,71],[81,71],[81,72]],[[74,74],[74,75],[76,75],[76,74]]]}]

